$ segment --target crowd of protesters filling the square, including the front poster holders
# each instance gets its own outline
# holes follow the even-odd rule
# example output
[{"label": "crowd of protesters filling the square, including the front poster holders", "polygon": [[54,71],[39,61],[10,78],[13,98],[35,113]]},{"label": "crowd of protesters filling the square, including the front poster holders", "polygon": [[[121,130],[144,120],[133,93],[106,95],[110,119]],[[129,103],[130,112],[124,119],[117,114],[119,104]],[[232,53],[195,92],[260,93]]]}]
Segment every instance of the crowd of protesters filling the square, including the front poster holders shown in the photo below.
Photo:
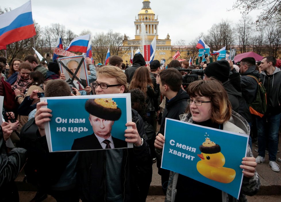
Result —
[{"label": "crowd of protesters filling the square, including the front poster holders", "polygon": [[[141,54],[134,55],[130,67],[117,55],[111,56],[107,65],[95,66],[86,58],[89,85],[79,79],[77,61],[67,64],[69,75],[60,72],[57,61],[46,63],[47,66],[28,55],[23,60],[13,59],[8,65],[6,58],[0,57],[0,96],[4,97],[0,201],[19,201],[14,180],[22,168],[27,182],[38,189],[32,201],[43,201],[49,194],[56,201],[73,202],[80,199],[83,202],[146,201],[155,162],[165,201],[197,200],[198,197],[203,200],[210,195],[215,201],[247,201],[246,195],[254,195],[259,190],[255,168],[265,162],[266,153],[271,169],[280,171],[276,160],[281,162],[281,159],[276,159],[276,154],[279,152],[281,73],[272,56],[261,61],[247,57],[236,63],[213,61],[209,56],[202,62],[197,57],[193,65],[172,60],[167,67],[158,60],[146,65]],[[183,86],[184,77],[193,74],[186,69],[202,69],[204,75]],[[257,100],[261,84],[267,101],[266,111],[258,116],[249,106]],[[101,143],[101,150],[49,152],[45,123],[51,120],[52,111],[46,102],[40,102],[41,96],[122,93],[131,94],[132,121],[126,123],[128,129],[124,137],[133,148],[119,149],[108,140]],[[86,110],[91,122],[98,115],[90,108]],[[249,135],[247,156],[241,159],[244,176],[238,199],[161,168],[166,118]],[[102,119],[111,121],[111,126],[115,120]],[[93,135],[95,133],[94,130]],[[253,157],[252,143],[258,144],[257,158]],[[108,149],[114,147],[118,149]]]}]

